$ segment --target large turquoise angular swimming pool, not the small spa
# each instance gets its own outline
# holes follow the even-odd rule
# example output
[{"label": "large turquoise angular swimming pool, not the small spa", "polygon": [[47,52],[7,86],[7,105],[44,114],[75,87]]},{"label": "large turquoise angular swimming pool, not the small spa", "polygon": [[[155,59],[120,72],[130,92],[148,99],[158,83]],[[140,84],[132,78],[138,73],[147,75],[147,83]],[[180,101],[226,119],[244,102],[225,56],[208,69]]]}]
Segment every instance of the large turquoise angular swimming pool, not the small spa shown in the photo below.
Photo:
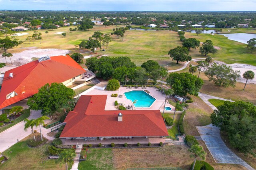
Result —
[{"label": "large turquoise angular swimming pool, not the small spa", "polygon": [[156,100],[143,90],[125,92],[124,95],[132,102],[134,102],[134,100],[137,100],[136,104],[134,104],[135,107],[150,107]]}]

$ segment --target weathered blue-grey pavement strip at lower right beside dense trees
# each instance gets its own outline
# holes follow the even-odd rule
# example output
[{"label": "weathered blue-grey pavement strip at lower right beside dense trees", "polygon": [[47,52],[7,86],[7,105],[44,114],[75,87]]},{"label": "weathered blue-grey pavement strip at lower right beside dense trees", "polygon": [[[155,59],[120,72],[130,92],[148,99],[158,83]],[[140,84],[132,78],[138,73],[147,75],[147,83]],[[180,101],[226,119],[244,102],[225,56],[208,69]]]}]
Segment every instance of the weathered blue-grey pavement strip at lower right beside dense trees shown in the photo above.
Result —
[{"label": "weathered blue-grey pavement strip at lower right beside dense trees", "polygon": [[248,170],[254,170],[249,164],[232,152],[222,141],[220,129],[212,126],[197,126],[196,129],[201,135],[205,145],[212,154],[215,162],[223,164],[240,164]]}]

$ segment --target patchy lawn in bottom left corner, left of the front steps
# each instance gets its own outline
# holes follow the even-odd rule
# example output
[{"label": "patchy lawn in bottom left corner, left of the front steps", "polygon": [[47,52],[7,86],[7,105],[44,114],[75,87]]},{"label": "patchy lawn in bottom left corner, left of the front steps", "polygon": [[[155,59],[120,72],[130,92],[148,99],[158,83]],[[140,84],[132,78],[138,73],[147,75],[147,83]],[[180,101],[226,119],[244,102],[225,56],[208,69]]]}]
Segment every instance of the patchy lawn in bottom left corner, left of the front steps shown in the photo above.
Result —
[{"label": "patchy lawn in bottom left corner, left of the front steps", "polygon": [[[32,137],[32,136],[31,136]],[[50,144],[38,148],[30,148],[26,141],[21,141],[10,147],[2,154],[8,157],[0,169],[3,170],[64,170],[65,164],[60,164],[56,160],[48,159],[46,148]],[[69,167],[71,168],[71,166]]]}]

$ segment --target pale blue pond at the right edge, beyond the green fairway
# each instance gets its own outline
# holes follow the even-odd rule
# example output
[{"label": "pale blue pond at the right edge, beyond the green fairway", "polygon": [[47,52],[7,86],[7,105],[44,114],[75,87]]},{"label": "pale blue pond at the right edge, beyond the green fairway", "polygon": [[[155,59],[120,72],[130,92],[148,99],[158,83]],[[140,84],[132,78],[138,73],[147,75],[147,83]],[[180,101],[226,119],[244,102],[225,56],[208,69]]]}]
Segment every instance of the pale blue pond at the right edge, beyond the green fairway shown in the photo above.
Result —
[{"label": "pale blue pond at the right edge, beyond the green fairway", "polygon": [[231,33],[231,34],[220,34],[228,37],[228,39],[238,41],[240,43],[246,44],[252,38],[256,38],[256,34],[248,34],[248,33]]}]

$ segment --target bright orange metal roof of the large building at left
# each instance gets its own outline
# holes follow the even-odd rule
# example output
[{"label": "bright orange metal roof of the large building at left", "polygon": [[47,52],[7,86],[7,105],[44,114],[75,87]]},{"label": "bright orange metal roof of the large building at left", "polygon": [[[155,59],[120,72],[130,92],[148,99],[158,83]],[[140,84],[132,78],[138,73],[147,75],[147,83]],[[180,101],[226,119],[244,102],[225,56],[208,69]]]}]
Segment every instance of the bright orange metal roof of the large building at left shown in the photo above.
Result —
[{"label": "bright orange metal roof of the large building at left", "polygon": [[[0,91],[0,109],[36,94],[46,83],[62,83],[84,72],[84,68],[69,55],[54,56],[41,62],[36,60],[8,70]],[[10,73],[13,73],[13,78],[9,77]],[[11,92],[18,95],[6,99]]]}]

